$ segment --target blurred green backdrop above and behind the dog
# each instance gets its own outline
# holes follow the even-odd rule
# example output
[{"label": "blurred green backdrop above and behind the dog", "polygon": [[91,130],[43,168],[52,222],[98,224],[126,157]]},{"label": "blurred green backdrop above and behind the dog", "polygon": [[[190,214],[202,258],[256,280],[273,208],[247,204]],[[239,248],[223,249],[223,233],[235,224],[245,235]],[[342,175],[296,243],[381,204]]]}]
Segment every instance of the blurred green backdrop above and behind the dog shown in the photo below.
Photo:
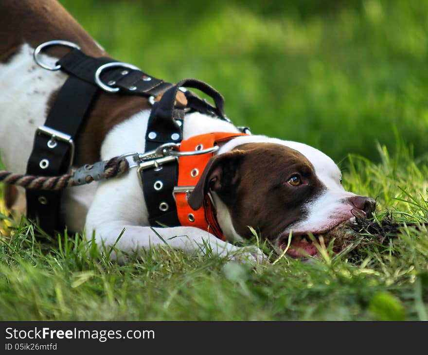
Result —
[{"label": "blurred green backdrop above and behind the dog", "polygon": [[428,1],[60,0],[107,52],[207,81],[253,133],[378,160],[428,151]]}]

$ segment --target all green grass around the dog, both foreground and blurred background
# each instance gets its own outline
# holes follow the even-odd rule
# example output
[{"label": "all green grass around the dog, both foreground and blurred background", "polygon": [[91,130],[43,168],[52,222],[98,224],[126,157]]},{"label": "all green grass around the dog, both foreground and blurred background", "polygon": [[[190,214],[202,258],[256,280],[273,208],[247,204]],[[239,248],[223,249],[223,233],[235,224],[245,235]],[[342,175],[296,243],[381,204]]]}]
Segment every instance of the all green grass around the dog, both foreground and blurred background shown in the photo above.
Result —
[{"label": "all green grass around the dog, both foreground and blurred background", "polygon": [[[346,189],[376,197],[376,218],[428,222],[426,2],[61,2],[114,57],[206,80],[236,124],[332,156]],[[424,227],[310,264],[163,248],[118,265],[79,236],[39,243],[1,218],[0,320],[428,318]]]}]

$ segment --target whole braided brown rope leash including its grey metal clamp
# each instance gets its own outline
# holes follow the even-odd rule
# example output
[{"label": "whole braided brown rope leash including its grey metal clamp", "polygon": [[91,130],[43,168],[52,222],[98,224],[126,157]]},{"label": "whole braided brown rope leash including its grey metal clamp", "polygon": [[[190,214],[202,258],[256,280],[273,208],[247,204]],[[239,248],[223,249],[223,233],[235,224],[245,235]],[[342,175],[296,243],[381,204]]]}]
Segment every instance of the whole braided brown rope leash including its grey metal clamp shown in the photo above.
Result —
[{"label": "whole braided brown rope leash including its grey metal clamp", "polygon": [[[98,169],[94,169],[97,167]],[[102,171],[100,171],[100,168]],[[99,172],[97,172],[97,170]],[[89,184],[94,180],[120,177],[129,170],[129,163],[124,157],[115,157],[93,165],[85,165],[71,174],[47,177],[25,174],[14,174],[0,170],[0,181],[6,184],[21,186],[28,190],[62,190],[66,187]],[[92,173],[93,171],[93,173]],[[80,174],[78,174],[80,172]],[[82,174],[84,172],[84,174]],[[82,176],[82,177],[78,177]]]}]

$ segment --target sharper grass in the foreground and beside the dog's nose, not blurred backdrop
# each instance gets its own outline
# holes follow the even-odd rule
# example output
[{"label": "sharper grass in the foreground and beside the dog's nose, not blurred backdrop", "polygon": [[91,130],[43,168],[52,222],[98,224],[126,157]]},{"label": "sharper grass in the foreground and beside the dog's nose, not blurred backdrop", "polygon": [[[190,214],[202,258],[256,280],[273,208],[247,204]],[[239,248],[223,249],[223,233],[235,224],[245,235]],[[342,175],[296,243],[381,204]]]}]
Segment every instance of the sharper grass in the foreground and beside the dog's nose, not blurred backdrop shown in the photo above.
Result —
[{"label": "sharper grass in the foreground and beside the dog's nose, not blurred backdrop", "polygon": [[[380,151],[381,163],[350,157],[345,187],[378,196],[378,218],[427,222],[427,160]],[[352,258],[327,246],[311,264],[251,267],[165,247],[118,265],[77,235],[41,244],[18,225],[0,244],[0,320],[427,320],[427,234],[405,228]]]}]

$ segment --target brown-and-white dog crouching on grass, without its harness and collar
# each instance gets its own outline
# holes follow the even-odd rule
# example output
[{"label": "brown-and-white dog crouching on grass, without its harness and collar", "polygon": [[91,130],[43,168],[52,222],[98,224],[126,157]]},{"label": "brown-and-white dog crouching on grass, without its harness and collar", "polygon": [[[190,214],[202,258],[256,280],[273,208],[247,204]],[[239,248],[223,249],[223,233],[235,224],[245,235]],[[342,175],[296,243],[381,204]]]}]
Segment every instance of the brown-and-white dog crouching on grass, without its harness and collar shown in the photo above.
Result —
[{"label": "brown-and-white dog crouching on grass, without its harness and collar", "polygon": [[[44,123],[53,95],[67,77],[38,67],[33,60],[36,46],[60,38],[78,43],[94,57],[107,53],[54,0],[1,2],[0,28],[1,159],[8,170],[25,173],[36,128]],[[66,52],[52,47],[41,57],[55,62]],[[76,142],[74,165],[143,152],[149,108],[143,97],[101,93]],[[198,112],[186,114],[184,120],[183,139],[239,132],[229,122]],[[224,241],[195,227],[150,227],[143,192],[132,171],[66,189],[61,211],[68,230],[93,233],[98,245],[114,245],[123,232],[116,248],[126,252],[162,246],[161,235],[170,247],[189,253],[207,253],[210,246],[219,256],[260,260],[264,257],[260,249],[230,242],[252,237],[249,227],[253,227],[279,253],[316,256],[309,232],[316,236],[356,213],[370,216],[375,210],[372,198],[344,190],[338,166],[321,151],[260,135],[239,136],[222,145],[202,172],[189,205],[200,208],[208,192],[214,198]],[[19,196],[15,198],[11,190],[6,195],[9,205],[20,204],[22,213],[22,191]]]}]

